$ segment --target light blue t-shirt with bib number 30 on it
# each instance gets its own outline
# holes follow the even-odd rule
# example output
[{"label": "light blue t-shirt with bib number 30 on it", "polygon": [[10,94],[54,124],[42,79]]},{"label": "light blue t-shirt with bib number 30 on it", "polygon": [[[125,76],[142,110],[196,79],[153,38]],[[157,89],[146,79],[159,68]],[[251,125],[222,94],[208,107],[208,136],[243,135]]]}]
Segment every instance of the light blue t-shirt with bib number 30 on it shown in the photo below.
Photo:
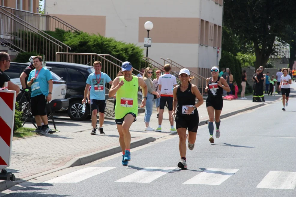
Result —
[{"label": "light blue t-shirt with bib number 30 on it", "polygon": [[105,84],[109,83],[111,79],[106,73],[101,72],[101,81],[98,85],[97,78],[100,79],[100,74],[95,76],[95,73],[91,73],[86,80],[86,83],[91,85],[89,97],[90,99],[105,100]]}]

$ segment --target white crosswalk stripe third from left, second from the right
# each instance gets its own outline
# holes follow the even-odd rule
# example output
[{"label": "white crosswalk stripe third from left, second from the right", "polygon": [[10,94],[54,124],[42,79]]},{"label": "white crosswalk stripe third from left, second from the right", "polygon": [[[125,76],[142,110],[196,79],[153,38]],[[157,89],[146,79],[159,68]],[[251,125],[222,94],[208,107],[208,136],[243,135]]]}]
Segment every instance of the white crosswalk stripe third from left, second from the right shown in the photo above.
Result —
[{"label": "white crosswalk stripe third from left, second from the right", "polygon": [[239,169],[208,168],[183,184],[220,185]]}]

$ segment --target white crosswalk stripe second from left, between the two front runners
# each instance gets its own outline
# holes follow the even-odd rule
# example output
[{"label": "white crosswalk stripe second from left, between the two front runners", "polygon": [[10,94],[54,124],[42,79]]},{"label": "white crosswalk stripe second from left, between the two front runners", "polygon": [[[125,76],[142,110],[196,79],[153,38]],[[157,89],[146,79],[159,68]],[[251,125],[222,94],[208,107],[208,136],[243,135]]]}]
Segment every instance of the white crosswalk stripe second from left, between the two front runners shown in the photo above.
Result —
[{"label": "white crosswalk stripe second from left, between the two front runners", "polygon": [[174,169],[176,169],[176,167],[146,167],[114,182],[150,183]]}]

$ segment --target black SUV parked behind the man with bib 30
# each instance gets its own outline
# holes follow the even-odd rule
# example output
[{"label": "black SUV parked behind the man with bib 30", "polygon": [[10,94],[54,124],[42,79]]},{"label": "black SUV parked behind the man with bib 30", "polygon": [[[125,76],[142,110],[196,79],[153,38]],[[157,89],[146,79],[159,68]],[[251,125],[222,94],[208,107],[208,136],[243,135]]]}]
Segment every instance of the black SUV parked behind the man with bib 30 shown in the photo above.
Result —
[{"label": "black SUV parked behind the man with bib 30", "polygon": [[92,66],[66,62],[47,61],[46,66],[62,77],[67,84],[66,99],[69,99],[68,115],[72,120],[81,121],[90,117],[90,106],[86,105],[85,113],[82,112],[86,79],[90,73],[95,72]]}]

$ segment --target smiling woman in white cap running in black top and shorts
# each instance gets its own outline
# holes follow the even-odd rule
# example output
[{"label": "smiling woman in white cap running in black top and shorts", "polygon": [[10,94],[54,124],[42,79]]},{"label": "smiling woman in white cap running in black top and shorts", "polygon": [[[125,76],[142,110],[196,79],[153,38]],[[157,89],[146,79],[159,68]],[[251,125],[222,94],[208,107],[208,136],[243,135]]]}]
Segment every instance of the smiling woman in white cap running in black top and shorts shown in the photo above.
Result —
[{"label": "smiling woman in white cap running in black top and shorts", "polygon": [[[179,79],[181,84],[176,86],[173,90],[174,100],[171,121],[176,117],[176,128],[179,135],[179,151],[181,157],[177,166],[181,169],[187,169],[186,139],[188,141],[189,150],[193,150],[199,123],[198,111],[196,108],[201,106],[201,104],[204,103],[204,100],[198,88],[190,83],[191,78],[189,70],[185,68],[181,69]],[[197,103],[195,103],[196,98],[198,99]],[[186,136],[187,128],[189,134]]]}]

